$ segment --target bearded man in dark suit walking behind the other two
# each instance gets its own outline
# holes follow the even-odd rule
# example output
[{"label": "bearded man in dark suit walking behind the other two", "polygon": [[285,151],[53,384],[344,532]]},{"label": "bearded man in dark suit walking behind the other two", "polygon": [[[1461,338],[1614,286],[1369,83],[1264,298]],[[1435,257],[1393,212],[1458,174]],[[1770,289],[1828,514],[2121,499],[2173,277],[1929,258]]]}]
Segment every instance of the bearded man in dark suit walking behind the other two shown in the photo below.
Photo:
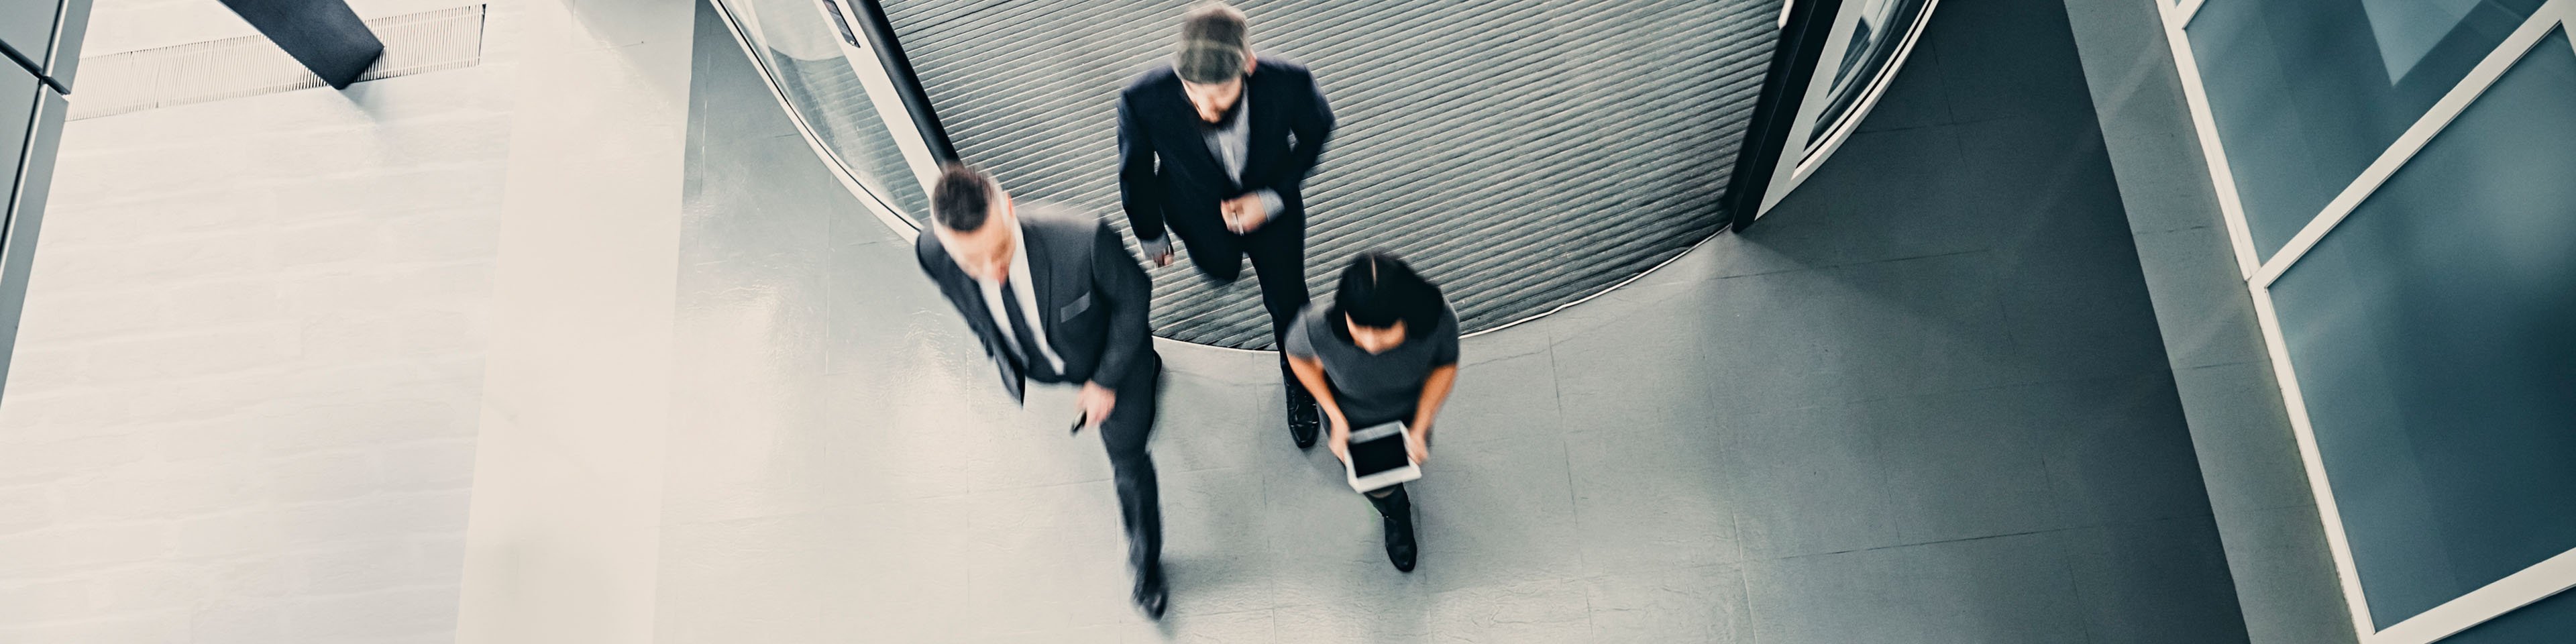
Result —
[{"label": "bearded man in dark suit walking behind the other two", "polygon": [[[1303,185],[1332,137],[1332,106],[1306,67],[1252,57],[1249,28],[1231,5],[1190,8],[1172,64],[1118,95],[1118,193],[1154,265],[1172,265],[1172,234],[1221,283],[1252,258],[1278,340],[1306,307]],[[1309,448],[1321,410],[1285,358],[1280,384],[1288,435]]]}]

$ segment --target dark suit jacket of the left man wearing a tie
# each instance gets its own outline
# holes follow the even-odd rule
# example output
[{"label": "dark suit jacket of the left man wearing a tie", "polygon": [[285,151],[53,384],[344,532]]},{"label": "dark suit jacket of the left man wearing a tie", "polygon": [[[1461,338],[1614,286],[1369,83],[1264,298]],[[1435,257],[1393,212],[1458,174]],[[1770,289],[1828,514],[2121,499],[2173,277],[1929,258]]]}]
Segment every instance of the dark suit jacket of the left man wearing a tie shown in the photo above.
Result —
[{"label": "dark suit jacket of the left man wearing a tie", "polygon": [[[1020,242],[1028,245],[1028,278],[1036,281],[1038,312],[1046,314],[1041,322],[1046,343],[1064,358],[1064,381],[1123,389],[1128,379],[1139,379],[1139,368],[1151,368],[1154,345],[1146,332],[1146,307],[1154,283],[1108,222],[1023,204]],[[966,327],[984,340],[984,355],[1002,371],[1002,386],[1010,389],[1012,399],[1020,399],[1025,368],[1010,355],[1010,343],[1002,340],[1005,330],[984,307],[984,286],[948,258],[938,234],[922,232],[912,247],[922,273],[940,286],[948,304],[956,304],[958,314],[966,317]],[[1151,381],[1151,374],[1144,379]]]}]

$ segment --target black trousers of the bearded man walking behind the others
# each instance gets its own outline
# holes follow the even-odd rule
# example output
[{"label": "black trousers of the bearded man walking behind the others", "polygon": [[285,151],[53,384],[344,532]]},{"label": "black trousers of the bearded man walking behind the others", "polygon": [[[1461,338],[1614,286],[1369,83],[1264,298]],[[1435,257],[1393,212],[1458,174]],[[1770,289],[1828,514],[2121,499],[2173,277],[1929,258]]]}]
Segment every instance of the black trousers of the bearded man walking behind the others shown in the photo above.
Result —
[{"label": "black trousers of the bearded man walking behind the others", "polygon": [[1252,258],[1252,276],[1262,283],[1262,309],[1270,312],[1270,340],[1288,335],[1288,325],[1296,325],[1296,312],[1306,309],[1309,299],[1303,211],[1280,211],[1249,234],[1234,234],[1221,224],[1216,229],[1175,227],[1172,234],[1190,247],[1190,265],[1218,283],[1242,278],[1244,258]]}]

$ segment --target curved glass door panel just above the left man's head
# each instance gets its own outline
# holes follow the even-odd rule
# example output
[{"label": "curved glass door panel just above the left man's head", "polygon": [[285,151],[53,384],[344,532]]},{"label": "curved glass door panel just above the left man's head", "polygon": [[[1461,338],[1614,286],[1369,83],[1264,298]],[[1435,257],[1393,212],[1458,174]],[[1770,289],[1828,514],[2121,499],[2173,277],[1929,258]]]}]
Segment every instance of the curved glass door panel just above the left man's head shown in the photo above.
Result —
[{"label": "curved glass door panel just above the left man's head", "polygon": [[[778,90],[824,149],[840,160],[863,188],[912,222],[925,222],[930,196],[912,178],[904,149],[878,116],[876,103],[850,64],[876,59],[842,57],[842,44],[858,46],[835,0],[726,0],[744,31],[760,46],[760,62]],[[909,124],[904,124],[909,126]]]}]

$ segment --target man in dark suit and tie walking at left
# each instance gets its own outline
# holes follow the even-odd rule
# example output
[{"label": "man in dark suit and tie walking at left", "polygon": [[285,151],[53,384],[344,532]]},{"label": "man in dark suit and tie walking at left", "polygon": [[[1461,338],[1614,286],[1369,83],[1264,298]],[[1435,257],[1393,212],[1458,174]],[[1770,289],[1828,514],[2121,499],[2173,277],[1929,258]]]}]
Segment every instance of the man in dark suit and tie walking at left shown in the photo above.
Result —
[{"label": "man in dark suit and tie walking at left", "polygon": [[1002,389],[1023,399],[1025,381],[1082,384],[1074,433],[1095,428],[1110,451],[1136,608],[1162,618],[1162,507],[1146,456],[1162,381],[1146,332],[1154,283],[1105,222],[1015,209],[974,167],[940,173],[930,214],[930,234],[914,242],[922,273],[984,340]]}]

